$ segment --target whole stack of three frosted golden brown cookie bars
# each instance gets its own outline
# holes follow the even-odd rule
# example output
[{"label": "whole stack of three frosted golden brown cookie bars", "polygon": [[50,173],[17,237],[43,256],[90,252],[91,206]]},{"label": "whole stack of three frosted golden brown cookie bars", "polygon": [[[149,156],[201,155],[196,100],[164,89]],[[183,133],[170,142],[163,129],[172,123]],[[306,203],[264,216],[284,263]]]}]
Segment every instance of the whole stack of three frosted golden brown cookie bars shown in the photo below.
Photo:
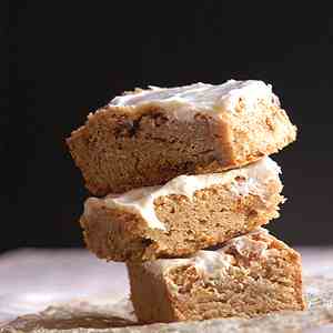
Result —
[{"label": "whole stack of three frosted golden brown cookie bars", "polygon": [[269,158],[296,129],[262,81],[150,87],[68,139],[98,258],[127,263],[142,323],[303,310],[300,254],[262,229],[282,183]]}]

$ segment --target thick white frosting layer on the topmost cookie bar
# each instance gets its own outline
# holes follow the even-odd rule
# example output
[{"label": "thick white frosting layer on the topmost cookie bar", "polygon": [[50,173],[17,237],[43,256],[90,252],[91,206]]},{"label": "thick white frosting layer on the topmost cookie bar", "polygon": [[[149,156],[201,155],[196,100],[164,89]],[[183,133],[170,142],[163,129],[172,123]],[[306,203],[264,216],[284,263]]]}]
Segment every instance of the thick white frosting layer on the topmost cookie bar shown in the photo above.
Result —
[{"label": "thick white frosting layer on the topmost cookie bar", "polygon": [[[254,80],[229,80],[223,84],[216,85],[199,82],[176,88],[150,87],[149,90],[140,90],[117,97],[109,104],[118,107],[135,107],[147,103],[161,104],[163,107],[176,104],[178,108],[181,104],[185,104],[193,109],[206,109],[220,113],[223,111],[233,112],[240,99],[248,108],[255,108],[259,100],[279,104],[278,98],[272,92],[271,84]],[[178,111],[181,112],[181,109]]]}]

